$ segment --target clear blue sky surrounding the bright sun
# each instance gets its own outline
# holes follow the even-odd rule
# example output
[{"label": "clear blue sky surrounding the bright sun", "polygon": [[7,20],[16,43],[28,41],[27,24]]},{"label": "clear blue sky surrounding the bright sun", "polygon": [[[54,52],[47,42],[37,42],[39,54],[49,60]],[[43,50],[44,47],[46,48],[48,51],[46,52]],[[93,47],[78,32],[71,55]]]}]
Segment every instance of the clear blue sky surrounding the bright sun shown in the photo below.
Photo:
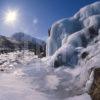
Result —
[{"label": "clear blue sky surrounding the bright sun", "polygon": [[[22,31],[45,40],[52,23],[96,1],[99,0],[0,0],[0,34],[10,36]],[[13,26],[4,23],[8,9],[18,10]]]}]

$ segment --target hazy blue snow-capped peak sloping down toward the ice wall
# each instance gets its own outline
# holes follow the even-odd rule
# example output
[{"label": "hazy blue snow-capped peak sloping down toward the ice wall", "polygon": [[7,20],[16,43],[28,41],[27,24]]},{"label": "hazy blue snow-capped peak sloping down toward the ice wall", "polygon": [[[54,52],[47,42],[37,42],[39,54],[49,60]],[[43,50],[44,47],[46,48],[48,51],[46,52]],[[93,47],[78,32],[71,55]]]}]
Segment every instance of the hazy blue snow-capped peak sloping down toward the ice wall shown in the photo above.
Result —
[{"label": "hazy blue snow-capped peak sloping down toward the ice wall", "polygon": [[11,38],[15,39],[16,41],[19,41],[23,45],[23,47],[33,49],[36,55],[39,55],[40,57],[45,56],[45,41],[34,38],[22,32],[13,34]]}]

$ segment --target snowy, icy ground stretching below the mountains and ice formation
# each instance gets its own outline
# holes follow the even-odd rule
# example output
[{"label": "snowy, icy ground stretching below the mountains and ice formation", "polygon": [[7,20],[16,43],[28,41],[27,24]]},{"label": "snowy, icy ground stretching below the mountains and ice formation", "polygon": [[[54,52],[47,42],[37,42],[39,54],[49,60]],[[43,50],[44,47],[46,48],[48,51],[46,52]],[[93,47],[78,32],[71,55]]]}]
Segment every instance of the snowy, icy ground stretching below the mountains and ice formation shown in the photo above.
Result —
[{"label": "snowy, icy ground stretching below the mountains and ice formation", "polygon": [[79,68],[53,69],[47,59],[27,51],[2,54],[0,58],[0,100],[90,99],[77,85]]}]

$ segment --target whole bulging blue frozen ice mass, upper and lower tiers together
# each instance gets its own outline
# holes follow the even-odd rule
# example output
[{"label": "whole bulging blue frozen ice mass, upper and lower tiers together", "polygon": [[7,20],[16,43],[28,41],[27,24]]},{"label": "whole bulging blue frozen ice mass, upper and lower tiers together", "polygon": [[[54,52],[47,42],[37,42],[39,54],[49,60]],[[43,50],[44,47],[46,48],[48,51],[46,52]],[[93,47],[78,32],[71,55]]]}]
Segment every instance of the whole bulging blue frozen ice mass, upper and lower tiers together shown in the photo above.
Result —
[{"label": "whole bulging blue frozen ice mass, upper and lower tiers together", "polygon": [[52,56],[50,64],[75,66],[80,52],[99,36],[100,2],[83,7],[73,17],[54,23],[47,41],[47,56]]}]

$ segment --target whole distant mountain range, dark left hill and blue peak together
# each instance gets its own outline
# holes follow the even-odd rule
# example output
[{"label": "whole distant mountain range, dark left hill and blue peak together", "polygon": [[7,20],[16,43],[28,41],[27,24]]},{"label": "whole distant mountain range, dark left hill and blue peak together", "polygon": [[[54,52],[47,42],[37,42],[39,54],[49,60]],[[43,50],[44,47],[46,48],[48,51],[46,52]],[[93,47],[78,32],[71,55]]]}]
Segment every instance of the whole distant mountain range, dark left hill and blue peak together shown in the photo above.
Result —
[{"label": "whole distant mountain range, dark left hill and blue peak together", "polygon": [[13,34],[12,37],[0,36],[0,50],[10,52],[14,50],[29,49],[34,51],[40,57],[45,56],[46,43],[40,39],[19,32]]}]

